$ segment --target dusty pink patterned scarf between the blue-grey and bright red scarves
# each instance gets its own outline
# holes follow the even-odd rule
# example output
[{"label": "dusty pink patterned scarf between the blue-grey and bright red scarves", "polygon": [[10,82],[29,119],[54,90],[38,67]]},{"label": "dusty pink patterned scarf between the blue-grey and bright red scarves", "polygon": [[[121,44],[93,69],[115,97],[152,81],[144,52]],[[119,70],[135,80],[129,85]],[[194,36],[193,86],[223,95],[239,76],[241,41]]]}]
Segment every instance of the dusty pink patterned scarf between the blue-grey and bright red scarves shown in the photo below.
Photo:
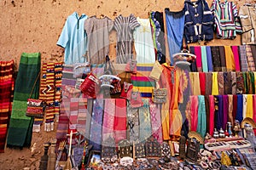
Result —
[{"label": "dusty pink patterned scarf between the blue-grey and bright red scarves", "polygon": [[115,115],[115,99],[105,99],[104,115],[102,122],[102,140],[113,138],[113,123]]}]

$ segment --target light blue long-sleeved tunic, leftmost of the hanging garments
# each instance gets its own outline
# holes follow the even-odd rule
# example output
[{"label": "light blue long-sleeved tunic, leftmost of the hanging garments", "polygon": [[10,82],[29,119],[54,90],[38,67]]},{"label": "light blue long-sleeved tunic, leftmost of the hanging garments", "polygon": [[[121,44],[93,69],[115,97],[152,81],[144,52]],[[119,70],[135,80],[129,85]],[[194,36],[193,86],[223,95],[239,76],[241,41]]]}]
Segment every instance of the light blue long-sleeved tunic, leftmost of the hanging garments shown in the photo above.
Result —
[{"label": "light blue long-sleeved tunic, leftmost of the hanging garments", "polygon": [[84,31],[84,20],[87,15],[74,12],[67,17],[65,26],[57,45],[65,48],[64,62],[66,65],[83,63],[87,46],[86,32]]}]

